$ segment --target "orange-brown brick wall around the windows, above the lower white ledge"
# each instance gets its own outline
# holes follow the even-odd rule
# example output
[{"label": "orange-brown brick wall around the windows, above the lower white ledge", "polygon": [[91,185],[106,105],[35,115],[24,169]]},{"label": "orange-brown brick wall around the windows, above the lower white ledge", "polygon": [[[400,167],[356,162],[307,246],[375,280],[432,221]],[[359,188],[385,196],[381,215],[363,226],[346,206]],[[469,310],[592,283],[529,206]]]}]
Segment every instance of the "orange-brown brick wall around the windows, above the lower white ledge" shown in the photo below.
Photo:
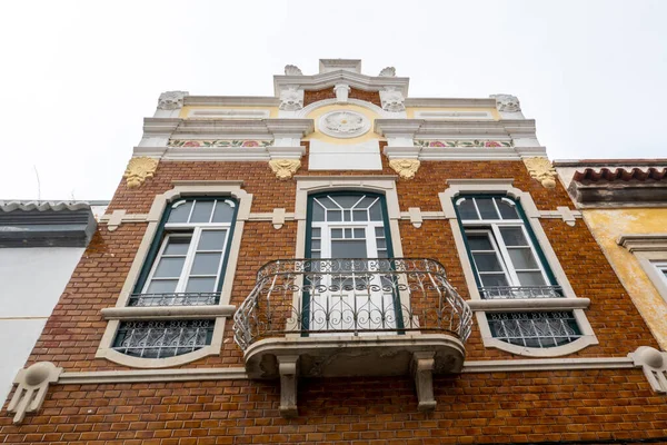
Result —
[{"label": "orange-brown brick wall around the windows, above the lower white ledge", "polygon": [[[299,175],[396,175],[382,157],[382,171],[308,171],[308,157]],[[420,207],[425,211],[441,210],[438,192],[450,178],[514,178],[517,188],[530,192],[538,208],[554,210],[570,205],[565,189],[546,189],[530,178],[520,161],[425,161],[414,180],[398,180],[397,190],[402,211]],[[128,212],[147,212],[158,194],[172,188],[172,180],[243,180],[243,189],[253,195],[251,211],[272,211],[285,207],[293,211],[296,181],[279,181],[267,162],[160,162],[155,178],[140,188],[128,189],[122,182],[110,206]],[[577,296],[590,298],[586,312],[599,345],[589,346],[570,357],[625,356],[638,346],[657,346],[627,293],[616,278],[600,248],[583,220],[574,227],[558,219],[540,219]],[[270,221],[249,221],[241,239],[232,300],[239,305],[255,286],[257,270],[277,258],[293,258],[296,222],[280,230]],[[123,366],[96,359],[107,323],[99,310],[116,305],[125,277],[141,241],[146,224],[123,224],[110,233],[100,225],[83,258],[72,275],[62,298],[38,340],[29,362],[51,360],[69,370],[118,369]],[[459,293],[468,298],[464,274],[449,222],[425,220],[421,228],[400,222],[406,257],[427,257],[442,263]],[[241,353],[231,339],[231,322],[226,326],[225,347],[220,356],[206,357],[185,367],[239,366]],[[485,348],[474,328],[467,345],[468,359],[525,358],[498,349]]]}]

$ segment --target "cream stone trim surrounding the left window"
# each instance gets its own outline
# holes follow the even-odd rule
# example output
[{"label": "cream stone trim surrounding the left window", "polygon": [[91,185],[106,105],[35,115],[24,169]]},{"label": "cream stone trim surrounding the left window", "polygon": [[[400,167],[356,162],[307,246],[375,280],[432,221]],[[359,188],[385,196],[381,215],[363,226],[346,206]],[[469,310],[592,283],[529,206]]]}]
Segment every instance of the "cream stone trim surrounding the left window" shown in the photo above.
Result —
[{"label": "cream stone trim surrounding the left window", "polygon": [[[230,306],[229,301],[231,299],[231,290],[233,286],[233,279],[236,276],[237,264],[239,259],[239,249],[241,246],[241,238],[243,235],[243,227],[246,220],[250,215],[250,207],[252,205],[252,195],[248,194],[246,190],[241,189],[242,181],[236,180],[220,180],[220,181],[207,181],[207,180],[179,180],[172,181],[173,188],[167,190],[162,195],[158,195],[155,197],[153,202],[151,205],[150,211],[148,212],[148,227],[146,228],[146,233],[143,234],[143,238],[141,239],[141,244],[139,245],[139,249],[135,256],[135,260],[130,266],[130,270],[126,277],[126,281],[122,286],[118,300],[116,303],[115,310],[120,310],[122,314],[127,310],[135,310],[133,308],[128,308],[128,300],[137,284],[137,279],[139,278],[139,274],[141,268],[143,267],[143,263],[146,261],[146,257],[148,256],[148,251],[150,246],[153,243],[153,238],[156,236],[158,226],[165,214],[165,210],[168,205],[180,199],[181,197],[188,196],[230,196],[237,199],[238,201],[238,210],[235,222],[233,236],[231,239],[231,245],[229,246],[229,256],[227,257],[227,268],[225,269],[225,281],[222,285],[222,289],[220,291],[220,301],[218,307],[220,307],[222,313],[227,313],[227,308]],[[160,309],[163,310],[163,309]],[[178,309],[177,309],[178,310]],[[197,309],[189,309],[197,310]],[[116,314],[111,310],[111,314]],[[161,318],[161,316],[160,316]],[[220,354],[220,349],[222,348],[222,336],[225,333],[225,319],[226,316],[217,316],[216,325],[213,327],[213,335],[211,338],[211,344],[196,352],[183,354],[176,357],[168,358],[140,358],[140,357],[130,357],[128,355],[118,353],[111,348],[113,343],[113,338],[116,336],[116,332],[118,330],[119,319],[110,319],[107,324],[107,329],[102,335],[102,339],[100,340],[100,345],[98,347],[96,357],[98,358],[107,358],[108,360],[138,368],[160,368],[160,367],[169,367],[182,365],[186,363],[190,363],[197,360],[201,357],[209,355]]]}]

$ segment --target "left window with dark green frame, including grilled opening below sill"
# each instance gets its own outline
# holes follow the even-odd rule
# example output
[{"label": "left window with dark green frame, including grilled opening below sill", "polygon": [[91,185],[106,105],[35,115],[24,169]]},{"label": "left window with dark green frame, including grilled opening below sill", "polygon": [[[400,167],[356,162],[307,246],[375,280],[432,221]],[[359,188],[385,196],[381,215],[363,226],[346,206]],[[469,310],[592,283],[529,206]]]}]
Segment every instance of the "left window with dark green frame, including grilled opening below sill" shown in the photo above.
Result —
[{"label": "left window with dark green frame, including grilled opening below sill", "polygon": [[[237,201],[225,197],[171,204],[128,306],[218,304],[237,209]],[[178,317],[121,322],[112,348],[135,357],[173,357],[210,345],[213,327],[213,319]]]}]

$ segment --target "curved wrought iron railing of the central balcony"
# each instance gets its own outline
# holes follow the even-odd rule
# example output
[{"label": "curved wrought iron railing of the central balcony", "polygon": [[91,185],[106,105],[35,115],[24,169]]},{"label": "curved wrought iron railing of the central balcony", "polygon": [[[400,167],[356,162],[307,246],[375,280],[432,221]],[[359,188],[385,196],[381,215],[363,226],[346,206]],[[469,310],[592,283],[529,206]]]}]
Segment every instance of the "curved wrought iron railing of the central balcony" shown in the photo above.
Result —
[{"label": "curved wrought iron railing of the central balcony", "polygon": [[466,342],[471,310],[432,259],[278,259],[235,314],[241,349],[286,334],[447,333]]}]

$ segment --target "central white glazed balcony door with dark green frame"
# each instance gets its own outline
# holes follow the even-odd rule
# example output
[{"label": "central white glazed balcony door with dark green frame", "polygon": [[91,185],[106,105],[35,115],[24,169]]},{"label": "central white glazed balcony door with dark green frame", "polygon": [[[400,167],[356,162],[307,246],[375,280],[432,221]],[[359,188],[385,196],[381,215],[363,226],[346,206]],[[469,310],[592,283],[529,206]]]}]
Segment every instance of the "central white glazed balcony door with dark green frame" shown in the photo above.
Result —
[{"label": "central white glazed balcony door with dark green frame", "polygon": [[311,333],[379,333],[400,327],[385,198],[313,195],[308,206],[302,325]]}]

